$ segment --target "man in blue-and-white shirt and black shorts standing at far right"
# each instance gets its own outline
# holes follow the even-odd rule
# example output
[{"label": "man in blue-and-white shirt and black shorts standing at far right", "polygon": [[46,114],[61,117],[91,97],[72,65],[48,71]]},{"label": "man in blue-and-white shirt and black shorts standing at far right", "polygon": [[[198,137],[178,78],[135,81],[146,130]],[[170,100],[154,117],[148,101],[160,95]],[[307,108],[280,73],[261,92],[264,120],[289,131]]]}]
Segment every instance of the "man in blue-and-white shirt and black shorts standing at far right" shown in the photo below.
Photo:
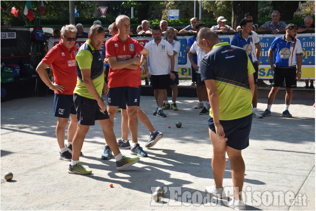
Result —
[{"label": "man in blue-and-white shirt and black shorts standing at far right", "polygon": [[[271,69],[274,71],[272,89],[268,97],[268,107],[263,112],[262,116],[267,117],[271,115],[271,106],[274,101],[275,95],[280,89],[282,82],[285,78],[286,95],[285,95],[285,108],[282,113],[284,117],[292,117],[289,112],[289,107],[293,97],[293,87],[296,87],[296,81],[301,79],[302,75],[302,45],[299,39],[295,36],[298,33],[299,27],[290,23],[285,28],[286,34],[281,37],[275,38],[272,42],[268,57]],[[273,64],[273,52],[276,54],[276,62]],[[298,71],[296,72],[296,66]],[[296,80],[297,79],[297,80]]]}]

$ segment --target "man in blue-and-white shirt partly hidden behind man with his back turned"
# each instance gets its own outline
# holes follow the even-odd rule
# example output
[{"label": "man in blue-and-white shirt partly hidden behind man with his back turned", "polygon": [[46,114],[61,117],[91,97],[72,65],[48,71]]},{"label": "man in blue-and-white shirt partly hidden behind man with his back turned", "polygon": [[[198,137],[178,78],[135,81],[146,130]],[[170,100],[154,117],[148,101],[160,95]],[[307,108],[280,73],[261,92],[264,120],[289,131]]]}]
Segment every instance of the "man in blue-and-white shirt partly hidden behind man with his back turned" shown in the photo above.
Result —
[{"label": "man in blue-and-white shirt partly hidden behind man with his back turned", "polygon": [[253,74],[254,82],[255,82],[255,92],[252,98],[252,112],[253,116],[256,118],[262,118],[262,115],[257,111],[257,103],[258,103],[258,66],[259,66],[259,57],[260,57],[260,39],[258,34],[252,31],[252,20],[251,19],[242,19],[239,23],[242,28],[241,32],[236,34],[231,41],[231,45],[237,46],[239,48],[243,48],[246,50],[250,61],[256,70]]}]

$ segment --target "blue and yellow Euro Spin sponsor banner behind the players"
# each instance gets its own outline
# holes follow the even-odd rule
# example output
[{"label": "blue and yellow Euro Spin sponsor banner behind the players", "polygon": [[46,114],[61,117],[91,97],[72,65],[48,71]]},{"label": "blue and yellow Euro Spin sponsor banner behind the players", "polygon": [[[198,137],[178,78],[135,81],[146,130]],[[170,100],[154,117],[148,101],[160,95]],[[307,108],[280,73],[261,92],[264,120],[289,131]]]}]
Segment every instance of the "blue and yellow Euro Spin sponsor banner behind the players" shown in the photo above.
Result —
[{"label": "blue and yellow Euro Spin sponsor banner behind the players", "polygon": [[[2,36],[2,33],[1,33]],[[230,43],[234,35],[219,35],[219,40],[221,42]],[[260,59],[259,59],[259,77],[260,78],[273,78],[273,71],[270,68],[270,62],[268,58],[269,48],[271,43],[276,37],[280,35],[270,35],[270,34],[262,34],[259,35],[260,38]],[[283,35],[281,35],[283,36]],[[178,70],[179,77],[191,77],[192,76],[192,68],[191,63],[187,53],[187,41],[191,36],[177,36],[178,41],[181,43],[180,53],[178,55]],[[2,37],[1,37],[2,38]],[[152,37],[132,37],[137,40],[140,44],[145,46],[146,43],[152,40]],[[163,37],[164,38],[164,37]],[[315,78],[315,33],[313,34],[298,34],[296,36],[302,43],[302,78]],[[106,37],[106,40],[110,39],[110,37]],[[48,41],[48,48],[51,49],[53,46],[59,43],[60,39],[52,39],[50,38]],[[77,51],[80,46],[82,46],[86,42],[86,38],[79,38],[76,41]],[[100,52],[102,52],[104,45],[101,47]],[[273,63],[275,63],[275,56],[273,56]],[[150,68],[150,64],[149,64]],[[145,70],[142,68],[141,76],[144,77]]]}]

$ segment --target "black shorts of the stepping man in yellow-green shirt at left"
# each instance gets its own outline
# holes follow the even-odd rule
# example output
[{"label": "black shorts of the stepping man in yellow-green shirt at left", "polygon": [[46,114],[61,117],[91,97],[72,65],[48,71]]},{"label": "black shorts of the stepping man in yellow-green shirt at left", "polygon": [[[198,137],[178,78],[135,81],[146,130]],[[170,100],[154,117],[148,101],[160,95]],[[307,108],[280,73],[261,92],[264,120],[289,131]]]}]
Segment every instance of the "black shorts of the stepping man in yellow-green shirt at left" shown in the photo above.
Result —
[{"label": "black shorts of the stepping man in yellow-green shirt at left", "polygon": [[79,125],[95,125],[96,120],[109,119],[107,111],[100,111],[97,100],[74,94],[74,102]]}]

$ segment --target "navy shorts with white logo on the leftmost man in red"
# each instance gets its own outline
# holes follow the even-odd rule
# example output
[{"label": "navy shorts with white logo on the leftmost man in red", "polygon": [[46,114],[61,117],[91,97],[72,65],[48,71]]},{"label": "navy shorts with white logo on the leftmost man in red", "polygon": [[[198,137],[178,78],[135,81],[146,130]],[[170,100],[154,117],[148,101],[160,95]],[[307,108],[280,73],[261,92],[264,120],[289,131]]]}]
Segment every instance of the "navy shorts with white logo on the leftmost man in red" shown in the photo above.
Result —
[{"label": "navy shorts with white logo on the leftmost man in red", "polygon": [[70,114],[76,114],[74,98],[72,94],[54,94],[54,116],[69,118]]}]

